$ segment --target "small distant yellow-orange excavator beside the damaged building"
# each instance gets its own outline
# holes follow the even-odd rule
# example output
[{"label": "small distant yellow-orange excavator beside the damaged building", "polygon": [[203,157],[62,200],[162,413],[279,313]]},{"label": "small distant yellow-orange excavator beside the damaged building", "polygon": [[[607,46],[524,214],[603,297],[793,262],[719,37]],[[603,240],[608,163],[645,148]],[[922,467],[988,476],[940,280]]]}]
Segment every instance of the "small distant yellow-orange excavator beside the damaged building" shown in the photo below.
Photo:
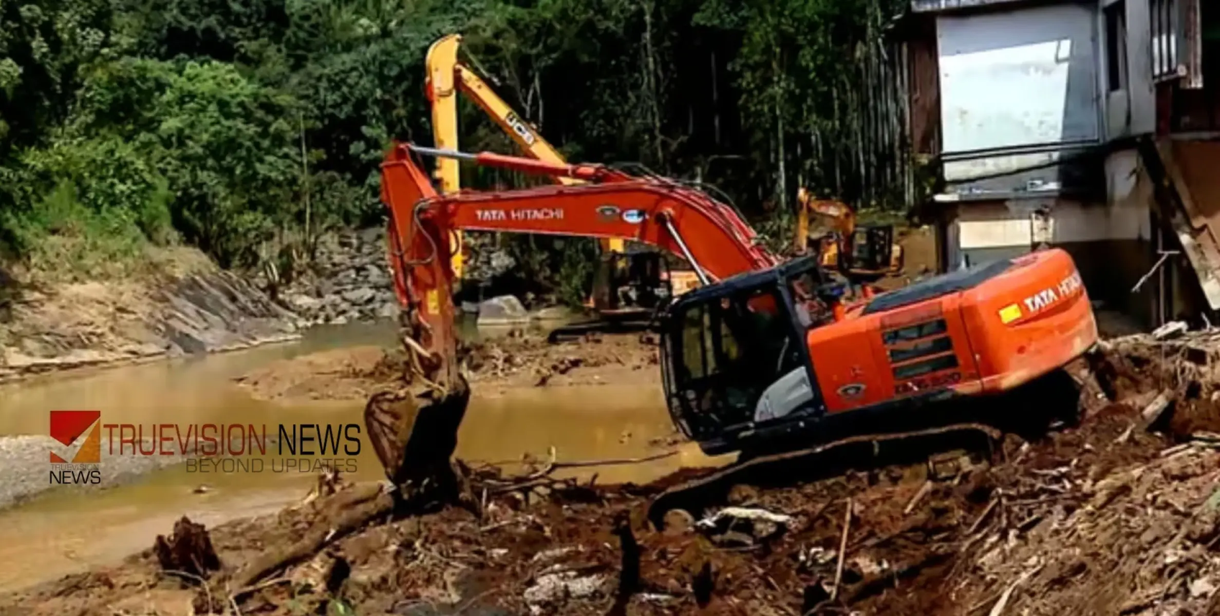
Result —
[{"label": "small distant yellow-orange excavator beside the damaged building", "polygon": [[902,271],[903,246],[894,242],[893,224],[856,224],[847,204],[816,199],[804,188],[797,190],[797,254],[809,251],[810,213],[830,221],[830,233],[814,238],[822,267],[842,272],[854,284]]}]

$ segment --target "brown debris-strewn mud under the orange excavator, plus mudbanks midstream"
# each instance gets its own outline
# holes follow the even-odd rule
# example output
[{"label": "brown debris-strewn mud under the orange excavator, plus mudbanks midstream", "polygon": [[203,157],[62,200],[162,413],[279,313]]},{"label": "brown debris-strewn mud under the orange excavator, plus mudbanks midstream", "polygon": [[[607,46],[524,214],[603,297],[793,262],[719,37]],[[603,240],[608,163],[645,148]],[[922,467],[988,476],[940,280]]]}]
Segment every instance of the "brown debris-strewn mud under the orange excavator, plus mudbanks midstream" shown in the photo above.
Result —
[{"label": "brown debris-strewn mud under the orange excavator, plus mudbanks midstream", "polygon": [[[405,517],[376,485],[320,479],[299,506],[207,529],[218,561],[198,572],[167,572],[149,549],[0,598],[0,612],[1220,614],[1218,342],[1110,342],[1105,361],[1069,370],[1078,417],[1042,435],[822,478],[775,467],[670,511],[664,529],[650,504],[710,471],[589,485],[551,479],[547,461],[516,477],[471,468],[478,506]],[[655,361],[638,338],[586,345],[566,371],[565,346],[504,344],[467,357],[476,378],[553,387],[598,362]],[[351,357],[342,371],[370,382],[387,361]],[[309,379],[248,384],[314,392]]]}]

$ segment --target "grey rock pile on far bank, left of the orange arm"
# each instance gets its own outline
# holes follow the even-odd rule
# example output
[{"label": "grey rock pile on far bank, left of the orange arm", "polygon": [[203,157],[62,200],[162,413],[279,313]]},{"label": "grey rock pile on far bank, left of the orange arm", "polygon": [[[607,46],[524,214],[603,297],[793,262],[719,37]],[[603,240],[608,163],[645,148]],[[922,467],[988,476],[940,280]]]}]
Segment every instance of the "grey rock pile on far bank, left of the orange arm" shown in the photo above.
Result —
[{"label": "grey rock pile on far bank, left of the orange arm", "polygon": [[381,227],[323,238],[314,274],[283,295],[306,324],[350,323],[398,316]]}]

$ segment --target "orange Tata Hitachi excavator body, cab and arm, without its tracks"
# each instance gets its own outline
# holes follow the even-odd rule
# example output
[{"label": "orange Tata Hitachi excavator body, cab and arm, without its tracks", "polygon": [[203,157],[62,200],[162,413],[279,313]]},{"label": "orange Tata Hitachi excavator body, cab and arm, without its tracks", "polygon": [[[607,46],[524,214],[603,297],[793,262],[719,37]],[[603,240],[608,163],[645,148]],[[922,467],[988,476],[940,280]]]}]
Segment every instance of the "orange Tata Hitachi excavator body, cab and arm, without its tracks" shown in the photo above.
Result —
[{"label": "orange Tata Hitachi excavator body, cab and arm, without its tracks", "polygon": [[[442,195],[421,156],[584,183]],[[1059,249],[847,296],[816,257],[781,262],[733,207],[675,179],[396,144],[382,199],[409,364],[427,389],[403,412],[366,409],[387,468],[418,444],[448,460],[468,399],[450,299],[454,229],[630,239],[684,259],[702,287],[664,311],[660,364],[673,422],[708,454],[883,432],[925,405],[1010,392],[1098,339]]]}]

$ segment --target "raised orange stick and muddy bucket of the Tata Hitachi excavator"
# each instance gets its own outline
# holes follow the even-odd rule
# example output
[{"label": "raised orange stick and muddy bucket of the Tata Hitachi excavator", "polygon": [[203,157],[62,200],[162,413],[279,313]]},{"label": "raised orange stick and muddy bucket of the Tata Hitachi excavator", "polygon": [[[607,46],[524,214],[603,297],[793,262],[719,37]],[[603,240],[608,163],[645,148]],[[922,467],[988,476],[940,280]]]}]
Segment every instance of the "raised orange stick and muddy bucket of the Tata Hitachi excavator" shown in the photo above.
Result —
[{"label": "raised orange stick and muddy bucket of the Tata Hitachi excavator", "polygon": [[370,399],[365,424],[386,476],[407,496],[458,488],[450,459],[470,400],[456,365],[450,227],[416,207],[434,196],[410,151],[395,145],[382,165],[382,201],[389,210],[388,256],[401,306],[404,387]]}]

